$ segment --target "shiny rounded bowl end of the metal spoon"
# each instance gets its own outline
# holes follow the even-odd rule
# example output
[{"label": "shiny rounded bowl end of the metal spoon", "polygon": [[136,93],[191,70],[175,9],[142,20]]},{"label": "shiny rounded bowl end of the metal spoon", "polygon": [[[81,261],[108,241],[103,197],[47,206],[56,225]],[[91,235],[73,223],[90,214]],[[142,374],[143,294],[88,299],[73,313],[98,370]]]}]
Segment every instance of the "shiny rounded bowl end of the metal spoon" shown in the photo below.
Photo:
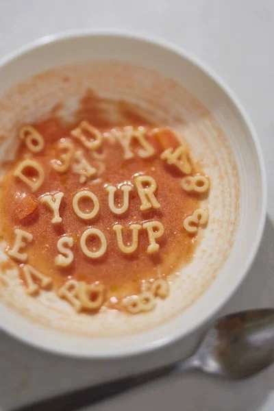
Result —
[{"label": "shiny rounded bowl end of the metal spoon", "polygon": [[206,373],[242,379],[274,361],[274,310],[249,310],[214,323],[193,359]]}]

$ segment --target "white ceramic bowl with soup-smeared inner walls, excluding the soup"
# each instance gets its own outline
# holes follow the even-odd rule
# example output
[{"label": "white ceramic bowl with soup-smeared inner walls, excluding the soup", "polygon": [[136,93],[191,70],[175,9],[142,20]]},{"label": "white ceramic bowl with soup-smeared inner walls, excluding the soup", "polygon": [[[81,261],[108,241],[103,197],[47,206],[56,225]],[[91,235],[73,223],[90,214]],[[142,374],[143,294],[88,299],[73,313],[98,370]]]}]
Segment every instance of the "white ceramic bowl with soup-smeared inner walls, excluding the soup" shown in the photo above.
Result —
[{"label": "white ceramic bowl with soup-smeared inner walls, excluding the soup", "polygon": [[[131,101],[159,123],[178,127],[212,182],[204,200],[210,223],[194,258],[175,276],[169,299],[155,312],[79,316],[46,292],[40,298],[27,297],[16,273],[2,267],[2,329],[55,353],[107,358],[153,350],[205,323],[247,275],[266,215],[260,144],[233,92],[182,49],[146,36],[107,31],[37,40],[1,60],[0,79],[0,164],[14,155],[18,123],[42,119],[61,100],[67,103],[62,114],[70,115],[77,95],[92,88]],[[2,243],[2,260],[4,249]]]}]

